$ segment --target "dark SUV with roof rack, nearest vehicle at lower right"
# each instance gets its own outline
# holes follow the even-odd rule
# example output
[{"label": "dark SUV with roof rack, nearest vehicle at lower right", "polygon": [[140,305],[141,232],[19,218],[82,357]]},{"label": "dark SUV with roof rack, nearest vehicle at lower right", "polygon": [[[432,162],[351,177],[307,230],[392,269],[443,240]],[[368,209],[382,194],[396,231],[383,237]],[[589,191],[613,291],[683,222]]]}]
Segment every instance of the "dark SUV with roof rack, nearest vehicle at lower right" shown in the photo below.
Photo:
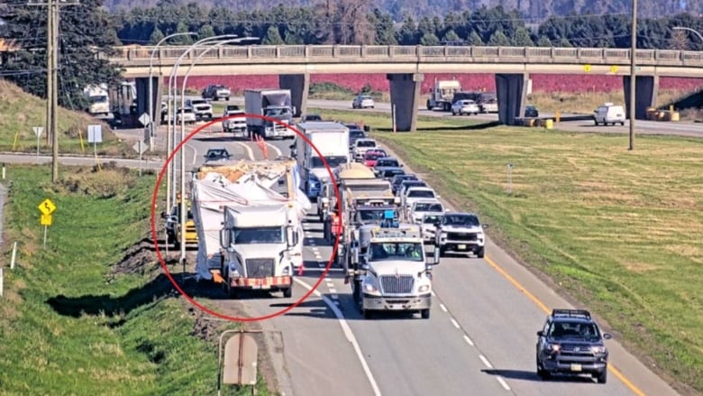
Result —
[{"label": "dark SUV with roof rack, nearest vehicle at lower right", "polygon": [[589,311],[553,309],[537,336],[537,375],[543,380],[565,373],[590,374],[598,383],[607,382],[604,340],[612,337],[600,332]]}]

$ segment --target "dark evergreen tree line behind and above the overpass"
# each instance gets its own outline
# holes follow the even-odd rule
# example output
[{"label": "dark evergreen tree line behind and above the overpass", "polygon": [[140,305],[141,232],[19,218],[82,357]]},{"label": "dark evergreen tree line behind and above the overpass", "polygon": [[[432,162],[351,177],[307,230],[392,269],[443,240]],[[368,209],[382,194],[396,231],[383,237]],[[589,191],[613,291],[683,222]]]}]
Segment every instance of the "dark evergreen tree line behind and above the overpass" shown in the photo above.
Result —
[{"label": "dark evergreen tree line behind and above the overpass", "polygon": [[[261,44],[437,45],[464,41],[469,45],[613,48],[629,48],[631,37],[629,14],[621,12],[631,0],[515,0],[495,6],[485,3],[496,2],[479,0],[420,0],[415,8],[410,6],[413,3],[399,0],[373,4],[370,0],[299,0],[300,5],[294,1],[275,6],[266,6],[270,2],[265,0],[187,4],[178,0],[140,0],[140,6],[127,8],[129,1],[81,0],[79,5],[60,7],[61,106],[83,108],[83,87],[96,81],[113,84],[121,79],[119,69],[99,57],[100,53],[111,53],[118,45],[154,44],[173,32],[198,32],[197,39],[215,34],[255,36],[260,37]],[[252,3],[256,6],[246,7]],[[525,13],[525,7],[529,9],[533,3],[552,14],[536,23]],[[703,2],[653,3],[668,5],[669,11],[678,14],[639,19],[638,48],[703,51],[703,41],[698,37],[671,29],[685,26],[703,33],[703,17],[680,13]],[[434,14],[427,8],[431,4],[435,5]],[[440,14],[443,8],[438,5],[451,5],[447,9],[461,11]],[[424,7],[428,11],[419,18],[417,12],[403,11]],[[576,14],[584,7],[593,14]],[[598,14],[598,10],[605,11]],[[45,7],[29,6],[27,0],[0,3],[0,40],[12,46],[12,51],[0,51],[0,78],[11,80],[38,97],[46,97],[46,16]],[[169,44],[192,41],[191,37],[181,36]]]}]

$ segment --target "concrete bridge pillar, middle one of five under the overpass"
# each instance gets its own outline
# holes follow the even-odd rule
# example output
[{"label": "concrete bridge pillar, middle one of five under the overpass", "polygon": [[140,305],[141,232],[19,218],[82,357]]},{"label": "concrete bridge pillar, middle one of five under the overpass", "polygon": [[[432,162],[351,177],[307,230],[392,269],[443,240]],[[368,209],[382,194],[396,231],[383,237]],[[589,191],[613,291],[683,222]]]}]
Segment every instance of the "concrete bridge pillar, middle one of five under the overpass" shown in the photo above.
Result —
[{"label": "concrete bridge pillar, middle one of five under the overpass", "polygon": [[387,74],[390,85],[390,105],[396,107],[398,132],[417,130],[417,109],[420,106],[420,87],[424,74]]}]

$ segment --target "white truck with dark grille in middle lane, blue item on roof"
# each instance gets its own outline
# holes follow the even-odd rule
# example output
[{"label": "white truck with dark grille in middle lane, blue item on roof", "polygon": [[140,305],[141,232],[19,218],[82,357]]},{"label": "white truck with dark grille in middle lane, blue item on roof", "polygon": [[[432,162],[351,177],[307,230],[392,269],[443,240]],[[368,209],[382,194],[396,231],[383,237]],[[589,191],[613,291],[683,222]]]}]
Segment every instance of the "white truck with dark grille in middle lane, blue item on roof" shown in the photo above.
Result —
[{"label": "white truck with dark grille in middle lane, blue item on roof", "polygon": [[374,311],[414,311],[430,318],[432,268],[439,250],[426,257],[420,226],[397,224],[388,211],[381,225],[361,226],[352,247],[353,297],[364,318]]}]

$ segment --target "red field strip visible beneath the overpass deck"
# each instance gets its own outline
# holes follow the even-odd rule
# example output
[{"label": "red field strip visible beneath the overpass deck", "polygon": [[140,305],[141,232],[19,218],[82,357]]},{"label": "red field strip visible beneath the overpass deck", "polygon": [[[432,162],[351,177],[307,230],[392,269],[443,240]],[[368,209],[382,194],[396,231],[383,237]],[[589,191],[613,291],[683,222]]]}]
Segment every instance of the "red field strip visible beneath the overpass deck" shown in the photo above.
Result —
[{"label": "red field strip visible beneath the overpass deck", "polygon": [[[496,80],[492,74],[425,74],[422,93],[428,93],[434,84],[434,79],[452,79],[461,81],[464,89],[495,90]],[[180,78],[178,78],[180,80]],[[388,80],[385,74],[314,74],[310,77],[311,84],[329,82],[340,87],[358,92],[361,87],[369,85],[375,91],[388,92]],[[180,83],[178,83],[179,85]],[[222,84],[235,92],[246,87],[278,87],[278,76],[190,76],[188,87],[201,90],[210,84]],[[620,76],[607,75],[558,75],[533,74],[532,89],[538,92],[610,92],[621,90],[623,79]],[[672,78],[662,77],[660,89],[695,91],[703,87],[703,78]]]}]

